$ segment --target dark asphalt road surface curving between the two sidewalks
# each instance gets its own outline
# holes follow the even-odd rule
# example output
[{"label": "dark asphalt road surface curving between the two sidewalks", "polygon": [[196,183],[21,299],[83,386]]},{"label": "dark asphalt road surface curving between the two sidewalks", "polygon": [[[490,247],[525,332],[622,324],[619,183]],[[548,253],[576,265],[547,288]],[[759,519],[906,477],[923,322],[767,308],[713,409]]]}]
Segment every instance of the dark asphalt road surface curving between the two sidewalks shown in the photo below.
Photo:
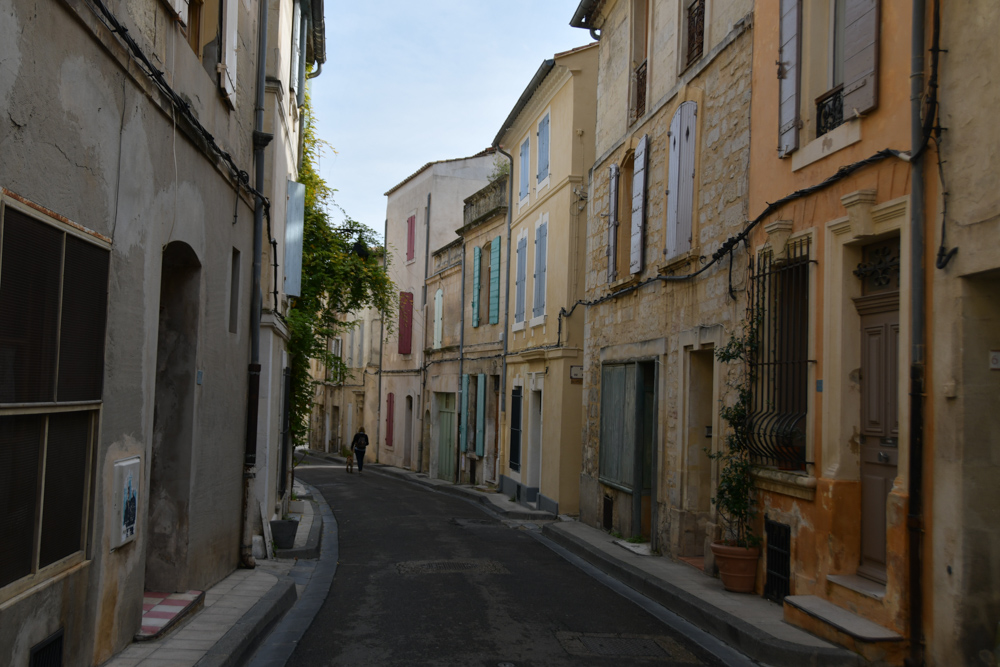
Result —
[{"label": "dark asphalt road surface curving between the two sidewalks", "polygon": [[537,527],[322,463],[296,475],[333,509],[340,560],[289,666],[722,665],[553,552]]}]

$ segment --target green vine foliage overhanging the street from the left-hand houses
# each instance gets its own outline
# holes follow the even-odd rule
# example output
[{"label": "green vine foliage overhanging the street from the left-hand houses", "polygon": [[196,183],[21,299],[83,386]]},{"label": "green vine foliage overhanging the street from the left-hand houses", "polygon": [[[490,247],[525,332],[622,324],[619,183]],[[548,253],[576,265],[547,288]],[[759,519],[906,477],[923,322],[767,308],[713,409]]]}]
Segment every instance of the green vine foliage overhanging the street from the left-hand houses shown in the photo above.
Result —
[{"label": "green vine foliage overhanging the street from the left-hand houses", "polygon": [[375,232],[346,216],[337,228],[327,213],[335,190],[319,175],[323,143],[316,136],[316,117],[308,95],[303,109],[303,149],[299,182],[305,185],[302,231],[302,295],[288,311],[291,357],[291,431],[297,445],[308,444],[309,415],[316,381],[310,374],[315,360],[334,377],[347,372],[329,351],[328,341],[354,326],[347,316],[367,307],[382,313],[387,331],[395,310],[395,285],[383,265],[385,249]]}]

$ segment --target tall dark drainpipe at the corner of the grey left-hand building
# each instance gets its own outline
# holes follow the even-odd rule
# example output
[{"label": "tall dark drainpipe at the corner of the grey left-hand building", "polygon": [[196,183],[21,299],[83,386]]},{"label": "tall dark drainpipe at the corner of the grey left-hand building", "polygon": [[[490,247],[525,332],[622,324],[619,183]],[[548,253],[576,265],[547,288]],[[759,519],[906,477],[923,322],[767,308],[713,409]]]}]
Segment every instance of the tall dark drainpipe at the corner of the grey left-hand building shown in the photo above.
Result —
[{"label": "tall dark drainpipe at the corner of the grey left-hand building", "polygon": [[[259,2],[260,18],[257,34],[257,101],[254,108],[253,160],[254,187],[264,191],[264,148],[271,143],[272,135],[264,132],[264,74],[267,66],[267,8],[264,0]],[[260,398],[260,265],[264,244],[264,206],[261,197],[256,198],[253,212],[253,282],[250,294],[250,366],[247,389],[247,427],[243,449],[243,531],[240,539],[240,565],[245,568],[256,566],[253,557],[253,522],[250,520],[253,503],[251,487],[257,464],[257,408]],[[275,308],[278,304],[274,304]]]}]

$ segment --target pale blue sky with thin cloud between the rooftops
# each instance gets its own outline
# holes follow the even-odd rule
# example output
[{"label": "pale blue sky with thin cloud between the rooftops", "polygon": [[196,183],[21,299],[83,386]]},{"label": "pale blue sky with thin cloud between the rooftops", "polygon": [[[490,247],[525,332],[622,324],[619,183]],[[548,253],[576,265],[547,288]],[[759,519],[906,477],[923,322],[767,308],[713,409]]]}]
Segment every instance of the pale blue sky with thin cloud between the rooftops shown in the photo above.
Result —
[{"label": "pale blue sky with thin cloud between the rooftops", "polygon": [[329,145],[320,174],[380,238],[387,190],[428,162],[490,146],[542,61],[593,41],[569,26],[579,0],[325,5],[326,64],[310,82]]}]

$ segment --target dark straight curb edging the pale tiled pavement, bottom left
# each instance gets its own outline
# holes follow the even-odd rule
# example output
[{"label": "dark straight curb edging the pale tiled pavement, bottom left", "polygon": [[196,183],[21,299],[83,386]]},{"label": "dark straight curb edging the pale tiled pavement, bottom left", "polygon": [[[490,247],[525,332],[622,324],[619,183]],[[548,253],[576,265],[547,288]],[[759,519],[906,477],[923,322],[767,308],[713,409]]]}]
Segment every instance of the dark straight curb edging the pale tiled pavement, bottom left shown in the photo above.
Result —
[{"label": "dark straight curb edging the pale tiled pavement, bottom left", "polygon": [[195,667],[242,665],[281,616],[292,608],[295,598],[295,582],[280,577],[271,590],[195,663]]}]

